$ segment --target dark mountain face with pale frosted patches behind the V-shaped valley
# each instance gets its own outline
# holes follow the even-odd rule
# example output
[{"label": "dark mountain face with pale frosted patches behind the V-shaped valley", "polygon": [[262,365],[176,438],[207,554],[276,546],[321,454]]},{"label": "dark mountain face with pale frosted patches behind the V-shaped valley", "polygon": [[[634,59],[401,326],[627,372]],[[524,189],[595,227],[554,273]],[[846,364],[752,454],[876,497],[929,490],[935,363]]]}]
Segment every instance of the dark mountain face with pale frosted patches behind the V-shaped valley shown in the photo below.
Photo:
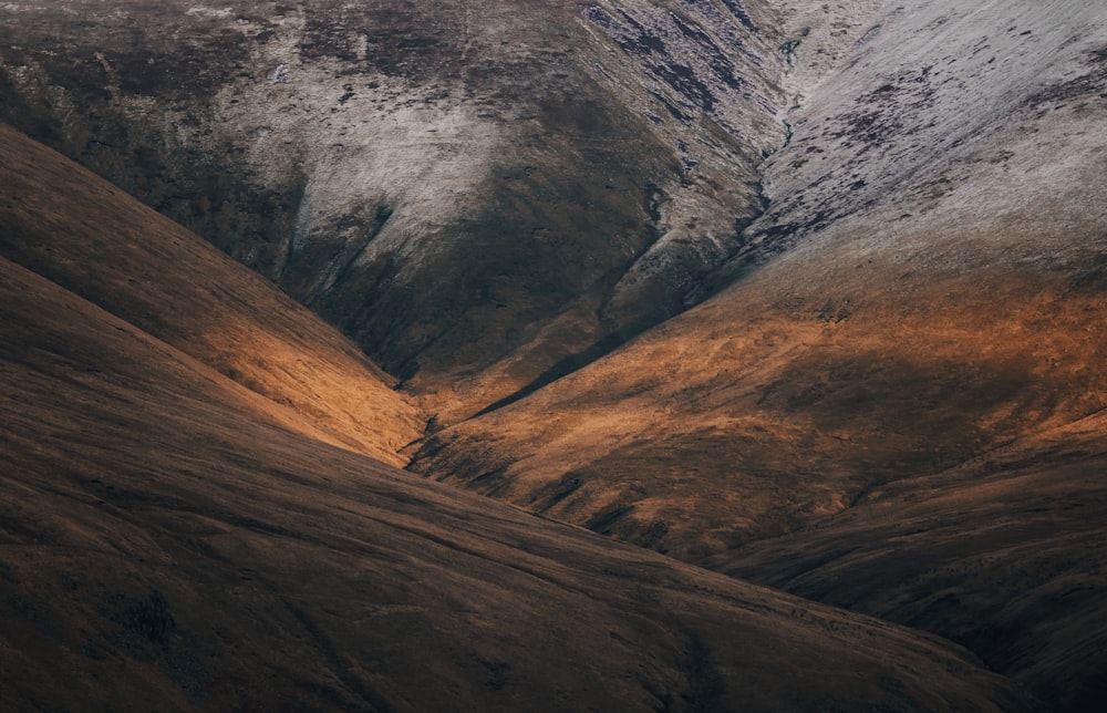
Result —
[{"label": "dark mountain face with pale frosted patches behind the V-shaped valley", "polygon": [[763,210],[798,41],[759,0],[0,12],[0,117],[461,390],[442,421],[696,299]]}]

